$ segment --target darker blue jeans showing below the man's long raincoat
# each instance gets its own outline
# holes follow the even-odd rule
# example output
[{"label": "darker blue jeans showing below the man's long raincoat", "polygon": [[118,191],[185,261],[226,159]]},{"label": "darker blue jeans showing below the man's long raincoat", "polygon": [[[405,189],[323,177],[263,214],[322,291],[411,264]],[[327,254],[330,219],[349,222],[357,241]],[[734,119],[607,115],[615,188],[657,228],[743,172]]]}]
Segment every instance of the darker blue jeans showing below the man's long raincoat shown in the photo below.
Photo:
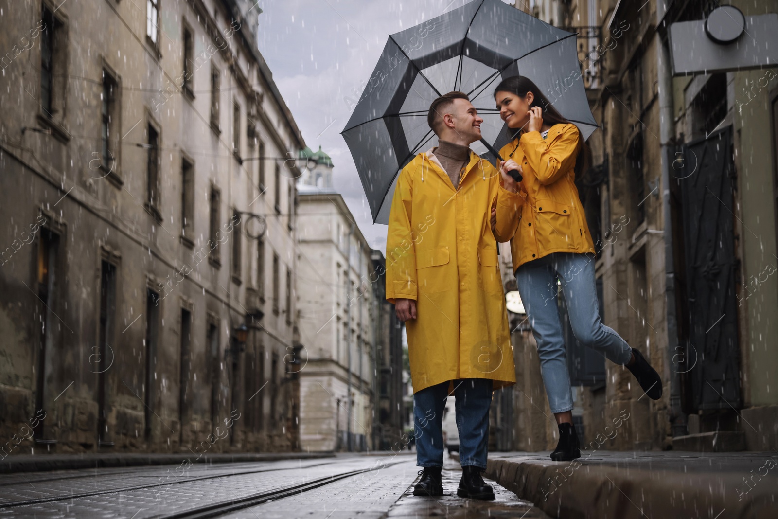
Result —
[{"label": "darker blue jeans showing below the man's long raincoat", "polygon": [[[443,409],[448,398],[448,382],[425,387],[413,395],[413,423],[416,438],[416,465],[443,466]],[[459,460],[463,467],[486,468],[489,450],[489,405],[492,380],[454,380],[454,398],[459,430]]]}]

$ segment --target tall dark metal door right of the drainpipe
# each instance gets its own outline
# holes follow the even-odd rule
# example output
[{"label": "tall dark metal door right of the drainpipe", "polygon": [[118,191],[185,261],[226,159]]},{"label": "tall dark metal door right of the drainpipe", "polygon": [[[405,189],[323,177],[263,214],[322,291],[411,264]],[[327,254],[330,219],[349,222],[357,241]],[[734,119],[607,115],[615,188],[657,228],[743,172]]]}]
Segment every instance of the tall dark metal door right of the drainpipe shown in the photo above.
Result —
[{"label": "tall dark metal door right of the drainpipe", "polygon": [[683,254],[689,338],[685,411],[742,405],[734,254],[732,127],[681,146]]}]

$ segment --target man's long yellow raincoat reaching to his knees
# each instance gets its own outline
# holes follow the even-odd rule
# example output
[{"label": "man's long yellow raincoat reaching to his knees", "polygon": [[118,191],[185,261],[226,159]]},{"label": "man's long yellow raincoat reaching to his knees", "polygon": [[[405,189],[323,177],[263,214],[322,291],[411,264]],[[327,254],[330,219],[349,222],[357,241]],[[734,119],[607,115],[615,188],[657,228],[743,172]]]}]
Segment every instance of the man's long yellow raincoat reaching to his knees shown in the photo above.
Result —
[{"label": "man's long yellow raincoat reaching to his knees", "polygon": [[[416,301],[405,322],[413,391],[461,378],[516,381],[497,237],[516,231],[519,195],[475,153],[459,186],[430,149],[400,172],[387,236],[387,300]],[[496,230],[490,225],[496,204]]]}]

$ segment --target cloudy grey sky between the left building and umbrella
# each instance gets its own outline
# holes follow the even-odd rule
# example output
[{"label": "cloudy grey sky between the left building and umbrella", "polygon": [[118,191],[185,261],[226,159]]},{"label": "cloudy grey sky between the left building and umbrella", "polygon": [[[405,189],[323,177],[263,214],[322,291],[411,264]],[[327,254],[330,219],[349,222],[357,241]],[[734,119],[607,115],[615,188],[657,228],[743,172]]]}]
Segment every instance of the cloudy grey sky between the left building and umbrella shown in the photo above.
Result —
[{"label": "cloudy grey sky between the left building and umbrella", "polygon": [[[387,36],[469,0],[261,0],[259,50],[303,139],[322,146],[333,177],[370,247],[386,247],[387,226],[373,225],[349,148],[340,135]],[[506,3],[513,3],[507,2]],[[345,99],[349,98],[349,99]]]}]

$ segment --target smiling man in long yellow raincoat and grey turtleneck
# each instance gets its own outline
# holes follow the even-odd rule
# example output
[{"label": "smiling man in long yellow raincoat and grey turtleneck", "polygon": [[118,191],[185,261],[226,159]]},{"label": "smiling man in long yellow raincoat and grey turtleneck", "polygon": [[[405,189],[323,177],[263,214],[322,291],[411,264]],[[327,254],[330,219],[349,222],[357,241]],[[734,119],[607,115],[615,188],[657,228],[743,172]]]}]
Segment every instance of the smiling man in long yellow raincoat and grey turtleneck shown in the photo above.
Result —
[{"label": "smiling man in long yellow raincoat and grey turtleneck", "polygon": [[457,495],[494,499],[481,477],[489,405],[492,389],[516,381],[497,241],[516,231],[519,188],[506,171],[520,167],[511,160],[497,170],[471,152],[483,119],[464,93],[433,101],[427,120],[440,145],[400,172],[387,237],[387,300],[408,334],[423,467],[414,495],[443,495],[441,427],[453,393],[463,472]]}]

